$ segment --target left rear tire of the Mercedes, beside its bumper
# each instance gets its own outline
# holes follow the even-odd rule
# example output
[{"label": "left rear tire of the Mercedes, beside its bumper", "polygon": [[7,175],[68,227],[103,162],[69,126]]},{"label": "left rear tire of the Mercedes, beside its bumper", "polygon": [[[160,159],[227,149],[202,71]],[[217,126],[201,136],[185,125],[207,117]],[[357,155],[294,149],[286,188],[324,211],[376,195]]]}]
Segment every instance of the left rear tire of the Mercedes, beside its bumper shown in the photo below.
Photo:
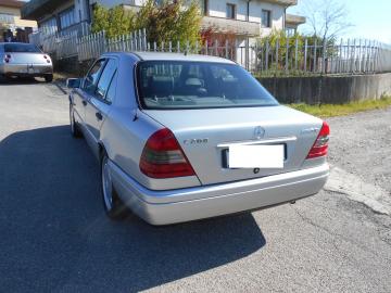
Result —
[{"label": "left rear tire of the Mercedes, beside its bumper", "polygon": [[104,153],[101,160],[101,193],[103,207],[109,218],[117,220],[128,215],[128,209],[121,201],[113,186],[109,156]]}]

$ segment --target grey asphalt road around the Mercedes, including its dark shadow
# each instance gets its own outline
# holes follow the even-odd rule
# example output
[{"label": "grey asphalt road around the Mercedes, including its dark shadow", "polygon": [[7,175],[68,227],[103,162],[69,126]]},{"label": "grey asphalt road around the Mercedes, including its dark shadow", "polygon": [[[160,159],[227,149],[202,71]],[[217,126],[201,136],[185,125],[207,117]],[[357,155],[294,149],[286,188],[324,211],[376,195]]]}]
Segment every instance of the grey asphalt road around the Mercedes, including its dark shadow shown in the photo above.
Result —
[{"label": "grey asphalt road around the Mercedes, including its dark shadow", "polygon": [[[0,84],[0,292],[391,292],[391,217],[343,192],[163,228],[109,220],[67,107],[54,85]],[[391,110],[329,122],[332,164],[391,196]]]}]

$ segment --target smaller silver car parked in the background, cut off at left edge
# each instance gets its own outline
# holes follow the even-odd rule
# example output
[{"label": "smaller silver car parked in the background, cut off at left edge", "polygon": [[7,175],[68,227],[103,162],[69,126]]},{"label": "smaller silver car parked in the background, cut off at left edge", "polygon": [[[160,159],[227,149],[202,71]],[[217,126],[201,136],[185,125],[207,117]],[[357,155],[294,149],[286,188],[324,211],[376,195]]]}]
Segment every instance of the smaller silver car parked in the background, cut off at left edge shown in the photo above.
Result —
[{"label": "smaller silver car parked in the background, cut off at left edge", "polygon": [[0,75],[5,77],[43,77],[53,80],[53,64],[35,44],[0,42]]}]

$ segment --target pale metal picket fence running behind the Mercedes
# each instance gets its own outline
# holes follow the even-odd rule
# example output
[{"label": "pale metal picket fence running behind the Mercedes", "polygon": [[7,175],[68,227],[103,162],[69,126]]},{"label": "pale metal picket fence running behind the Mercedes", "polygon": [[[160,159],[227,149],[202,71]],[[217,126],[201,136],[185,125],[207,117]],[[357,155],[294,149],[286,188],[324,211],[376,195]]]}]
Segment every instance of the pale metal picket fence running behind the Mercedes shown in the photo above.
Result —
[{"label": "pale metal picket fence running behind the Mercedes", "polygon": [[[87,30],[89,31],[89,30]],[[368,40],[283,38],[225,41],[148,42],[146,30],[108,38],[104,31],[80,36],[40,36],[42,49],[56,59],[77,56],[79,62],[97,59],[110,51],[187,52],[230,59],[260,75],[365,74],[391,71],[391,47]],[[30,38],[30,41],[34,41]],[[243,44],[244,43],[244,44]],[[250,44],[252,43],[252,44]]]}]

